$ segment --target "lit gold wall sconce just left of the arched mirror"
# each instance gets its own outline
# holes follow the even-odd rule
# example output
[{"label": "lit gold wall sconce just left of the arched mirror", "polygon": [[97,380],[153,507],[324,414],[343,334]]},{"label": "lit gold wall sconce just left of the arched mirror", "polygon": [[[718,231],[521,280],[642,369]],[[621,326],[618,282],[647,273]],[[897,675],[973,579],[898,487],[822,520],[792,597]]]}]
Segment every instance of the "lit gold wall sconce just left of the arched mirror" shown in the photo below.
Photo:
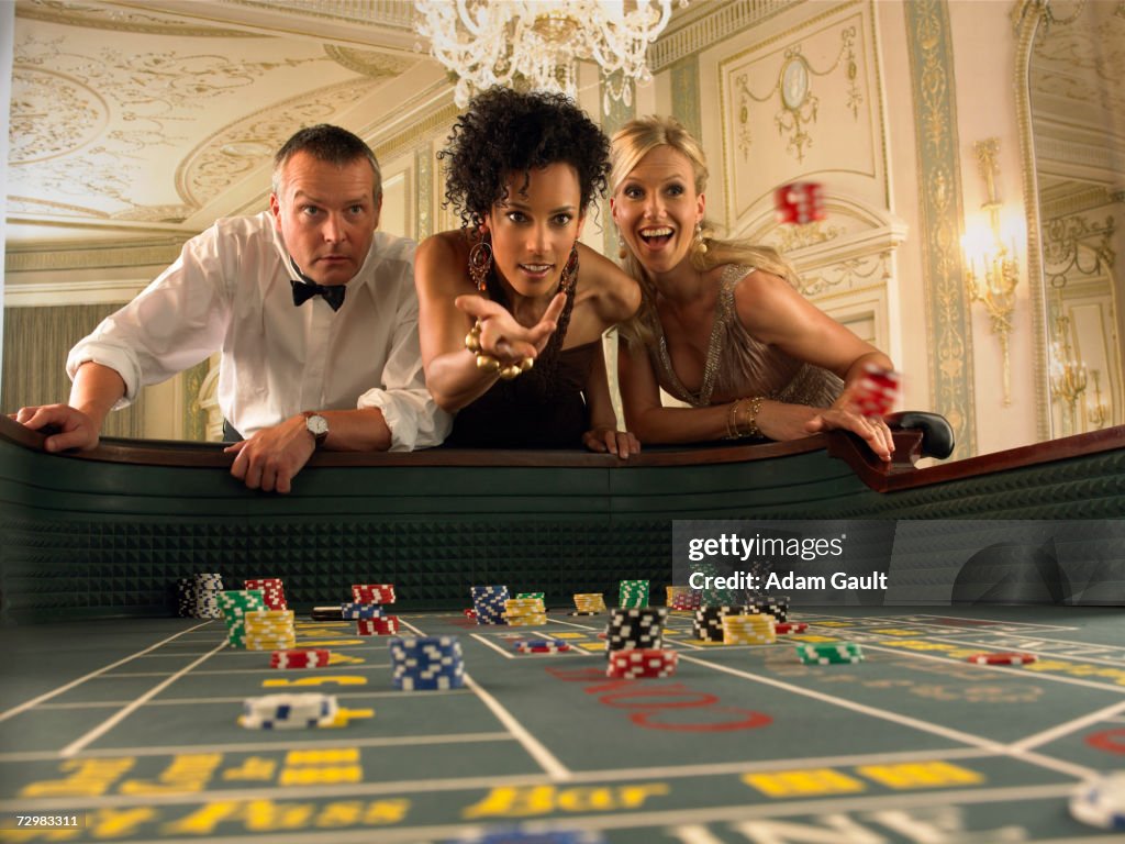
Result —
[{"label": "lit gold wall sconce just left of the arched mirror", "polygon": [[1006,244],[1000,230],[1000,200],[997,197],[996,177],[999,170],[997,154],[999,138],[990,137],[973,144],[976,163],[988,189],[988,201],[981,210],[988,213],[988,230],[983,226],[970,227],[962,239],[965,253],[965,285],[969,300],[980,302],[992,323],[992,333],[1000,340],[1004,361],[1004,404],[1011,404],[1011,363],[1008,353],[1008,335],[1011,333],[1011,313],[1016,308],[1016,282],[1019,280],[1019,263],[1016,261],[1016,241],[1010,237]]}]

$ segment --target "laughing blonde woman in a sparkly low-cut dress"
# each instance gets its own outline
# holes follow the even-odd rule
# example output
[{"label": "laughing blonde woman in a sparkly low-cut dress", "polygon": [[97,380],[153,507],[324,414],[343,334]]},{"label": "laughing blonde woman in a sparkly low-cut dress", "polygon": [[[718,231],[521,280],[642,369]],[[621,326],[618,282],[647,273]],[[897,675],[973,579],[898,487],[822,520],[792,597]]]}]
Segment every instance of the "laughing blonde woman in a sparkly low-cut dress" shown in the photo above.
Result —
[{"label": "laughing blonde woman in a sparkly low-cut dress", "polygon": [[[699,142],[672,118],[645,117],[613,136],[611,158],[621,257],[644,294],[619,367],[640,441],[843,429],[890,460],[890,429],[852,401],[865,366],[891,369],[890,358],[807,302],[774,250],[711,236]],[[662,406],[660,387],[691,407]]]}]

